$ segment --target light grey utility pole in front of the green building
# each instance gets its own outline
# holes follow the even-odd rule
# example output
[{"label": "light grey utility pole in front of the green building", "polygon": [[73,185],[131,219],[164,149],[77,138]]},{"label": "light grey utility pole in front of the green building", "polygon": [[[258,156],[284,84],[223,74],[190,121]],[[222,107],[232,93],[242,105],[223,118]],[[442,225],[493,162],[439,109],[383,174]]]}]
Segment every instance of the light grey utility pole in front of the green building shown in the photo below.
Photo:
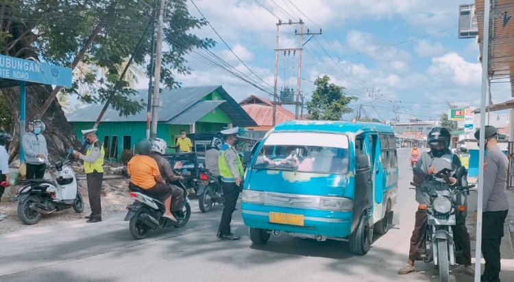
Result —
[{"label": "light grey utility pole in front of the green building", "polygon": [[154,79],[154,95],[151,105],[151,138],[157,137],[157,124],[159,113],[159,90],[160,90],[160,63],[162,60],[162,29],[164,29],[164,1],[160,0],[159,23],[157,30],[157,46],[156,46],[156,63],[155,63],[155,79]]}]

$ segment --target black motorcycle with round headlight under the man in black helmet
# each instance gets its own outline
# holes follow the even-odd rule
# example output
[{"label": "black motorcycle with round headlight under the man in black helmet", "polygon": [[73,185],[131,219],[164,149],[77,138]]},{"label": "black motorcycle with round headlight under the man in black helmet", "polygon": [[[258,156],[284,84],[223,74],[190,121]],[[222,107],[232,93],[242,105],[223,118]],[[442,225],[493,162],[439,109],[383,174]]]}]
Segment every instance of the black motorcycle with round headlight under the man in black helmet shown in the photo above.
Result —
[{"label": "black motorcycle with round headlight under the man in black helmet", "polygon": [[[420,190],[430,197],[427,205],[427,228],[424,249],[418,250],[425,262],[434,261],[439,267],[441,282],[450,280],[450,265],[455,264],[456,250],[452,226],[456,225],[458,212],[466,209],[466,194],[475,185],[467,185],[465,168],[461,167],[455,173],[458,186],[452,186],[443,180],[450,170],[445,169],[436,175],[424,175],[424,171],[414,168],[415,177],[424,179],[421,183],[413,183],[415,190]],[[412,188],[411,188],[412,189]]]}]

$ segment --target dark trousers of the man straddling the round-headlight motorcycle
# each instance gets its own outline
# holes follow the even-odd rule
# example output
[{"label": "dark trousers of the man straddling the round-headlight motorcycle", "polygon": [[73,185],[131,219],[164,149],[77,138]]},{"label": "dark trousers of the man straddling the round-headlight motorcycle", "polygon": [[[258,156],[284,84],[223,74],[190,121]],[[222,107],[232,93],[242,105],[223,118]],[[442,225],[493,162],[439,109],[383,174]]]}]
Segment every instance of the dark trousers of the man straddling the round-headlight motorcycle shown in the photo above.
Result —
[{"label": "dark trousers of the man straddling the round-headlight motorcycle", "polygon": [[[418,209],[416,211],[413,235],[411,236],[411,248],[408,251],[408,259],[411,261],[419,260],[417,250],[425,248],[427,220],[428,214],[426,209]],[[469,242],[469,233],[467,232],[465,220],[457,220],[457,225],[452,226],[452,231],[456,250],[456,263],[464,266],[471,265],[471,243]]]}]

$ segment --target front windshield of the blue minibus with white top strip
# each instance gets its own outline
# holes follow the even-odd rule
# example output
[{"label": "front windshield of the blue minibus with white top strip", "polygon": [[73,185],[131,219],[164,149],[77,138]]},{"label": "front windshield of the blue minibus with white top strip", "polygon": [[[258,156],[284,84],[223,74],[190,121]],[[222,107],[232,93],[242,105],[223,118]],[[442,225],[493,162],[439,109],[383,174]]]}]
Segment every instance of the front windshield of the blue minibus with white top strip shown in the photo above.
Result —
[{"label": "front windshield of the blue minibus with white top strip", "polygon": [[253,168],[345,174],[348,138],[332,133],[271,133]]}]

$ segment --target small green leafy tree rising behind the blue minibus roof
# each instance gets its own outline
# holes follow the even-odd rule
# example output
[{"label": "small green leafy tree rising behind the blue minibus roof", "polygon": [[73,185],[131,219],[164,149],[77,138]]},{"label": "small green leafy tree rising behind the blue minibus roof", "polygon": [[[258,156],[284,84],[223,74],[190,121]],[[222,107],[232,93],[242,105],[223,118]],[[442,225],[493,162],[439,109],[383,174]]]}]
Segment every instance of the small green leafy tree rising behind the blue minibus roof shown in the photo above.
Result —
[{"label": "small green leafy tree rising behind the blue minibus roof", "polygon": [[327,75],[314,81],[316,90],[313,99],[307,103],[310,120],[341,120],[343,114],[352,112],[347,105],[356,98],[347,96],[344,87],[330,84],[329,81]]}]

